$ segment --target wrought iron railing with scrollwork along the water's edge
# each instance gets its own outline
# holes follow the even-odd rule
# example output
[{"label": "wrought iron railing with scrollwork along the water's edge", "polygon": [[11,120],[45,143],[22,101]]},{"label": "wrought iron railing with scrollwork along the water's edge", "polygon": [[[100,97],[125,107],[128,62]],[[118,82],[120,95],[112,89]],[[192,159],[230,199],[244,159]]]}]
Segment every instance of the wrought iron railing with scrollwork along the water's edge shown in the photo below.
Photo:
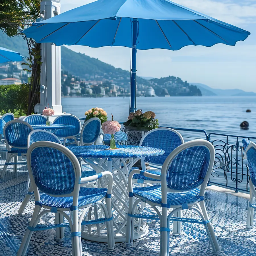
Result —
[{"label": "wrought iron railing with scrollwork along the water's edge", "polygon": [[[81,118],[82,119],[82,118]],[[123,122],[119,122],[123,123]],[[167,127],[167,126],[161,126]],[[215,148],[215,162],[209,185],[234,189],[236,192],[249,192],[249,171],[244,159],[242,140],[256,137],[244,137],[221,133],[209,133],[201,129],[169,127],[179,131],[184,141],[206,139]]]}]

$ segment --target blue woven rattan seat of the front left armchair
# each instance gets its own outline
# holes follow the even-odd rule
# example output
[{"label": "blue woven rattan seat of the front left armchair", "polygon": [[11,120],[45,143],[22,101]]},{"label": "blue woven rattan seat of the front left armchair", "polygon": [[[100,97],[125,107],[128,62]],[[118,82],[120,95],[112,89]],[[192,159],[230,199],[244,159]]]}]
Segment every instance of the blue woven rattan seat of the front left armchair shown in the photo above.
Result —
[{"label": "blue woven rattan seat of the front left armchair", "polygon": [[[78,197],[78,207],[92,204],[106,196],[107,189],[81,187]],[[40,201],[36,205],[48,207],[70,209],[73,203],[73,197],[52,197],[45,193],[40,193]]]}]

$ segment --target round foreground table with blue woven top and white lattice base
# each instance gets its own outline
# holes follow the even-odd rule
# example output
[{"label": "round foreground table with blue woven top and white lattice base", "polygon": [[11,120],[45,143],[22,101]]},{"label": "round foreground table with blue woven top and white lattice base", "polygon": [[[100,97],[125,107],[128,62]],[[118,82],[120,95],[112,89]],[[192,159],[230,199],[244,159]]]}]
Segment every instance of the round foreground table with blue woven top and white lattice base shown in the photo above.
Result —
[{"label": "round foreground table with blue woven top and white lattice base", "polygon": [[[77,157],[92,166],[98,172],[110,171],[113,174],[112,207],[114,217],[115,242],[125,241],[126,221],[129,204],[128,174],[135,162],[143,157],[159,156],[164,150],[143,146],[119,145],[119,149],[109,150],[106,145],[67,146]],[[106,187],[104,179],[98,180],[98,187]],[[94,218],[94,214],[101,216],[100,208],[90,210],[86,220]],[[137,209],[135,211],[139,213]],[[143,219],[135,220],[134,239],[145,236],[148,232]],[[98,242],[107,242],[106,224],[84,226],[81,230],[82,238]]]}]

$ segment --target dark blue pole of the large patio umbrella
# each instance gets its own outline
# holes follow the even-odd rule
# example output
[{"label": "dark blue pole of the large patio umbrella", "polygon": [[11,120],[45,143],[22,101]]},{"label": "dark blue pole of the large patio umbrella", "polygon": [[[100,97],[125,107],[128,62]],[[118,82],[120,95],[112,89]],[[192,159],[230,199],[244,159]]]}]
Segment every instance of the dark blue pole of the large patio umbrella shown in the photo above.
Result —
[{"label": "dark blue pole of the large patio umbrella", "polygon": [[136,41],[138,37],[138,19],[133,18],[133,49],[132,49],[132,75],[130,91],[130,112],[136,111]]}]

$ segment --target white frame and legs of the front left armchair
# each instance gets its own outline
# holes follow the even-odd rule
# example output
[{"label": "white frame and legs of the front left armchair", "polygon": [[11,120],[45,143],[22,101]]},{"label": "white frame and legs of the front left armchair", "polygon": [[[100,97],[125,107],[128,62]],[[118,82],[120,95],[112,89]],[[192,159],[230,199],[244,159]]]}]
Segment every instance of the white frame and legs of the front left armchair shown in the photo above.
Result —
[{"label": "white frame and legs of the front left armchair", "polygon": [[[86,177],[86,178],[80,178],[81,177],[81,168],[80,168],[80,164],[79,161],[77,160],[76,156],[65,146],[55,143],[55,142],[46,142],[46,141],[38,141],[35,143],[32,143],[30,145],[30,147],[28,148],[28,173],[30,176],[30,181],[31,181],[31,185],[34,191],[34,195],[35,195],[35,200],[36,201],[40,201],[40,194],[39,194],[39,190],[38,187],[36,186],[33,174],[32,174],[32,170],[31,170],[31,162],[30,162],[30,155],[31,152],[38,147],[51,147],[54,149],[57,149],[59,151],[61,151],[63,154],[65,154],[69,160],[71,161],[73,168],[74,168],[74,172],[75,172],[75,186],[74,186],[74,190],[72,193],[70,194],[65,194],[65,195],[50,195],[50,196],[54,196],[54,197],[73,197],[73,205],[78,205],[78,197],[79,197],[79,190],[80,190],[80,186],[83,183],[88,183],[89,181],[93,181],[93,180],[97,180],[98,179],[98,175],[93,175],[90,177]],[[107,193],[108,194],[112,194],[112,186],[113,186],[113,176],[111,172],[102,172],[102,177],[107,177],[107,179],[105,179],[105,181],[108,184],[108,190]],[[102,178],[101,177],[101,178]],[[102,201],[99,200],[99,203]],[[106,218],[111,218],[112,217],[112,206],[111,206],[111,198],[105,198],[106,201],[106,206],[102,203],[100,203],[102,209],[104,210],[104,214],[106,216]],[[58,208],[57,213],[61,216],[64,216],[68,222],[69,222],[69,226],[71,229],[71,232],[81,232],[81,226],[82,226],[82,220],[84,218],[84,215],[86,214],[86,212],[92,207],[92,205],[84,205],[82,207],[79,207],[79,209],[84,209],[84,211],[82,212],[80,218],[78,218],[78,210],[73,210],[72,211],[72,219],[70,216],[68,216],[64,211],[66,211],[67,209],[62,209],[62,208]],[[39,205],[35,205],[34,208],[34,212],[33,212],[33,216],[31,218],[30,224],[29,226],[32,228],[35,228],[40,217],[48,212],[51,212],[51,207],[46,207],[44,206],[43,208],[45,208],[44,211],[42,211],[40,213],[42,207],[40,207]],[[108,230],[108,249],[112,250],[114,248],[115,245],[115,241],[114,241],[114,230],[113,230],[113,221],[110,220],[107,222],[107,230]],[[22,243],[20,245],[20,248],[18,250],[17,256],[24,256],[26,254],[26,250],[28,248],[29,245],[29,241],[30,238],[32,236],[34,231],[27,229],[26,233],[24,235],[24,238],[22,240]],[[80,236],[73,236],[71,237],[72,240],[72,255],[73,256],[82,256],[82,242],[81,242],[81,237]]]}]

